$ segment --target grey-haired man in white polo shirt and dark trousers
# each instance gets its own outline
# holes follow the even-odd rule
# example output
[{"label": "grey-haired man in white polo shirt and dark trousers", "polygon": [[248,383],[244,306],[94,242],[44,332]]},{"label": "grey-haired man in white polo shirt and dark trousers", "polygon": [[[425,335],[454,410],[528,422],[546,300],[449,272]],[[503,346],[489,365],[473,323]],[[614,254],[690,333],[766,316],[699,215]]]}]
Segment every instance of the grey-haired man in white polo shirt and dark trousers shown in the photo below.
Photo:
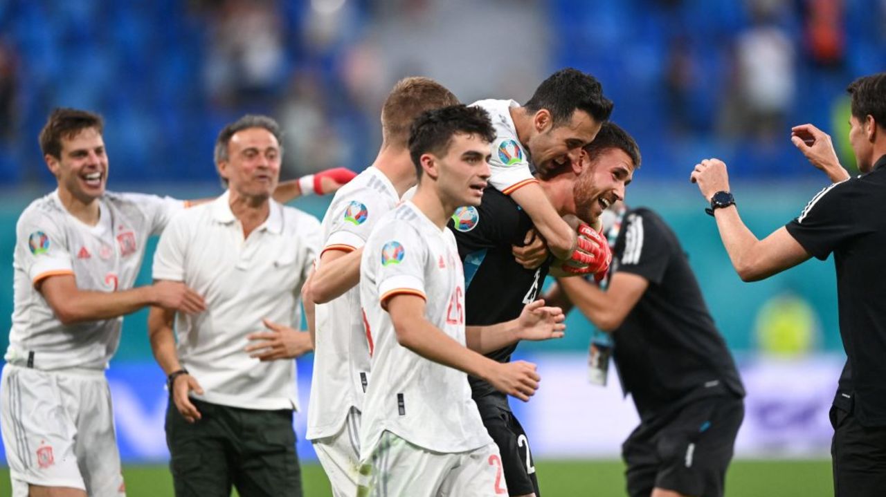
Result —
[{"label": "grey-haired man in white polo shirt and dark trousers", "polygon": [[[197,315],[155,307],[149,317],[170,386],[167,445],[180,497],[227,497],[231,486],[241,495],[301,495],[291,358],[312,345],[292,328],[320,223],[271,199],[281,155],[273,119],[226,126],[215,163],[228,191],[173,219],[154,256],[155,280],[182,281],[206,298]],[[279,336],[247,350],[263,325]]]}]

